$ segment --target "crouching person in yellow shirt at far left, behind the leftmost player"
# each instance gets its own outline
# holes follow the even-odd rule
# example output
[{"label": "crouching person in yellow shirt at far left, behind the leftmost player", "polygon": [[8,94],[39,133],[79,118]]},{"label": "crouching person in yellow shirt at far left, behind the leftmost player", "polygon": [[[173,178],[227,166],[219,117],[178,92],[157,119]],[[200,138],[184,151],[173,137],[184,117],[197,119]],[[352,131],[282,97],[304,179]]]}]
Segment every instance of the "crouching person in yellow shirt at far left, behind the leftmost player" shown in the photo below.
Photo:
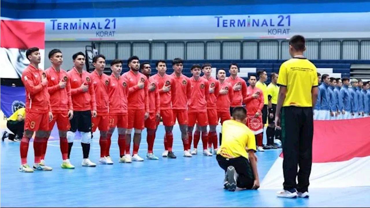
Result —
[{"label": "crouching person in yellow shirt at far left, behind the leftmost player", "polygon": [[5,135],[9,135],[9,140],[19,142],[23,137],[24,131],[24,117],[26,116],[26,108],[19,108],[16,112],[14,112],[8,119],[6,123],[6,127],[13,132],[13,134],[9,134],[8,132],[4,131],[2,135],[2,140],[6,138]]}]

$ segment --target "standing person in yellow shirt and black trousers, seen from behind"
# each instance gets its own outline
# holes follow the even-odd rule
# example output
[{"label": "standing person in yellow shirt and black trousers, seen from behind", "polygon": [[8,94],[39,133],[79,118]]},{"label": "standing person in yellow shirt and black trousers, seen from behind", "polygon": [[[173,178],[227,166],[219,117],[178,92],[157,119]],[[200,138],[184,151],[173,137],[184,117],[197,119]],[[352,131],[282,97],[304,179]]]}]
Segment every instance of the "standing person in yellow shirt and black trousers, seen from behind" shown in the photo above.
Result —
[{"label": "standing person in yellow shirt and black trousers, seen from behind", "polygon": [[282,130],[284,157],[284,190],[278,192],[277,197],[283,198],[309,197],[313,140],[312,107],[316,104],[318,83],[315,65],[303,56],[305,43],[303,36],[290,38],[289,53],[292,58],[280,66],[277,79],[280,90],[275,125]]}]

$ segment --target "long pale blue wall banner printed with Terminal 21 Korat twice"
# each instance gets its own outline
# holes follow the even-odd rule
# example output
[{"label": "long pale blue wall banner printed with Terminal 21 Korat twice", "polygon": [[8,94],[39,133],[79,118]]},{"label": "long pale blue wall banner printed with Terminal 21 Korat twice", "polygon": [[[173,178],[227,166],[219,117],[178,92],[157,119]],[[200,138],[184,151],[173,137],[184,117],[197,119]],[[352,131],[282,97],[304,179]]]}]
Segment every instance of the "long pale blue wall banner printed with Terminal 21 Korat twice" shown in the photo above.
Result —
[{"label": "long pale blue wall banner printed with Terminal 21 Korat twice", "polygon": [[370,13],[27,19],[47,41],[368,38]]}]

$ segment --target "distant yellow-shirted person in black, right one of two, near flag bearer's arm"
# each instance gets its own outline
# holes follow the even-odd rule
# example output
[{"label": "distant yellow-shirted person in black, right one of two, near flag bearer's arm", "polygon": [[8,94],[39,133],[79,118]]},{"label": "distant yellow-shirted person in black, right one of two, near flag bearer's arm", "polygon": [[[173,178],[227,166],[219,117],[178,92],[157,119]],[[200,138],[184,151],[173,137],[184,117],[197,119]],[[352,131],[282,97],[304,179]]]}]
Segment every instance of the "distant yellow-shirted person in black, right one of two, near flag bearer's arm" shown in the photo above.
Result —
[{"label": "distant yellow-shirted person in black, right one of two, near flag bearer's arm", "polygon": [[281,131],[275,130],[275,112],[277,104],[277,95],[279,94],[279,86],[277,86],[277,78],[279,75],[275,72],[271,74],[271,83],[267,86],[268,102],[269,102],[269,125],[266,129],[267,145],[272,149],[276,149],[277,146],[274,144],[274,137],[280,140]]}]

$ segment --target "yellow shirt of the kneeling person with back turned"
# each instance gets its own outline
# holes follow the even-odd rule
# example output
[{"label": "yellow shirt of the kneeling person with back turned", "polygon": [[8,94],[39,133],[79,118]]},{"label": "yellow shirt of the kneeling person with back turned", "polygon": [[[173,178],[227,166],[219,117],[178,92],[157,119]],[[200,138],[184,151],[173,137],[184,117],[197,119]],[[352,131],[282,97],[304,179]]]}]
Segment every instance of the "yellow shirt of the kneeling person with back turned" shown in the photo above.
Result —
[{"label": "yellow shirt of the kneeling person with back turned", "polygon": [[222,124],[222,144],[217,154],[225,158],[245,157],[249,150],[257,150],[254,133],[245,125],[235,120],[227,120]]}]

